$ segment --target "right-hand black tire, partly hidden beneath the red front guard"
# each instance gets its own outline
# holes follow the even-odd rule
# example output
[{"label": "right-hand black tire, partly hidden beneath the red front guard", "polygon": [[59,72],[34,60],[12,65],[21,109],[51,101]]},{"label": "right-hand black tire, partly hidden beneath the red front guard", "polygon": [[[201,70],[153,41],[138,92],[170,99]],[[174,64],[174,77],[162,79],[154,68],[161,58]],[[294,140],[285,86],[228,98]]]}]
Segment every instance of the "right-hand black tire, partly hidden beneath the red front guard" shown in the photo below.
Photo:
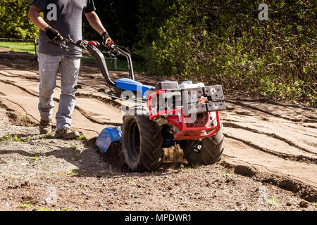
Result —
[{"label": "right-hand black tire, partly hidden beneath the red front guard", "polygon": [[[189,165],[211,165],[218,162],[221,159],[223,153],[223,128],[221,128],[217,134],[198,140],[186,141],[184,150],[184,158]],[[201,149],[199,151],[194,150],[194,143],[199,142]]]}]

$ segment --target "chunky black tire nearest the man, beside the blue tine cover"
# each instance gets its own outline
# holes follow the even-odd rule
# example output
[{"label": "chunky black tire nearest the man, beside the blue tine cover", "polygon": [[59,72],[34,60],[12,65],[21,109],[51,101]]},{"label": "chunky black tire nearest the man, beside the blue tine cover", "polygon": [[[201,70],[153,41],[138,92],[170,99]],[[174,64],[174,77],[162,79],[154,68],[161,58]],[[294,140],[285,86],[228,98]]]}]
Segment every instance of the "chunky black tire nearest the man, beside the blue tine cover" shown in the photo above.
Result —
[{"label": "chunky black tire nearest the man, beside the blue tine cover", "polygon": [[[135,110],[135,108],[132,108]],[[163,155],[163,136],[161,126],[149,120],[148,115],[134,115],[128,113],[123,117],[122,138],[123,155],[129,169],[133,172],[145,172],[157,169],[161,165]],[[139,130],[139,139],[133,134],[136,126]],[[139,144],[133,140],[139,140]],[[138,142],[138,141],[137,141]],[[132,146],[139,146],[139,152]]]}]

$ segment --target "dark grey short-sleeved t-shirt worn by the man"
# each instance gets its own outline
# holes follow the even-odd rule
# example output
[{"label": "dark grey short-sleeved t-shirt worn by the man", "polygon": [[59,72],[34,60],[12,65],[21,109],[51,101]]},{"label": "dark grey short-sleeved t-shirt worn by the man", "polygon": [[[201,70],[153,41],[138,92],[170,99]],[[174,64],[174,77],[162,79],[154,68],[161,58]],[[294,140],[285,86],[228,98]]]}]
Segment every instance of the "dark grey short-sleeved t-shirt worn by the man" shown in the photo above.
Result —
[{"label": "dark grey short-sleeved t-shirt worn by the man", "polygon": [[[94,0],[33,0],[32,5],[39,6],[44,13],[44,20],[54,29],[58,30],[64,38],[75,42],[82,39],[82,12],[91,13],[96,10]],[[49,37],[39,30],[39,53],[52,56],[76,56],[81,53],[66,51],[58,46],[49,44]],[[79,48],[76,48],[80,51]]]}]

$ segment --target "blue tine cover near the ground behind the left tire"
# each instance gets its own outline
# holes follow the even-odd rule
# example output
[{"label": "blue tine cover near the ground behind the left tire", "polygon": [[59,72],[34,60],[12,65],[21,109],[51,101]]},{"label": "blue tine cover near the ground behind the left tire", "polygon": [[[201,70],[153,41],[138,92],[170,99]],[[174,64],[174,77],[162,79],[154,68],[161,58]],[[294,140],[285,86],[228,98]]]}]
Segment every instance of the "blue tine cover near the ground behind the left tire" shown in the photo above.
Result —
[{"label": "blue tine cover near the ground behind the left tire", "polygon": [[106,127],[97,137],[96,146],[101,153],[106,153],[113,141],[120,141],[122,132],[120,127]]}]

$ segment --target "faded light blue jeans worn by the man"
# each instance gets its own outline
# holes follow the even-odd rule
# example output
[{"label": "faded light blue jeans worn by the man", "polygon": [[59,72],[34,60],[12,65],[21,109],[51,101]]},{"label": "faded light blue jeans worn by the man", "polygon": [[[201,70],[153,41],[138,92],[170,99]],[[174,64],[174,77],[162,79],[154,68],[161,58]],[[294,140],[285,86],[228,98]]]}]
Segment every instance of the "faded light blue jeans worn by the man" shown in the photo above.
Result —
[{"label": "faded light blue jeans worn by the man", "polygon": [[61,72],[61,96],[56,113],[56,130],[70,128],[75,108],[75,94],[80,58],[70,56],[50,56],[39,53],[39,114],[41,120],[51,120],[54,108],[54,89],[58,69]]}]

